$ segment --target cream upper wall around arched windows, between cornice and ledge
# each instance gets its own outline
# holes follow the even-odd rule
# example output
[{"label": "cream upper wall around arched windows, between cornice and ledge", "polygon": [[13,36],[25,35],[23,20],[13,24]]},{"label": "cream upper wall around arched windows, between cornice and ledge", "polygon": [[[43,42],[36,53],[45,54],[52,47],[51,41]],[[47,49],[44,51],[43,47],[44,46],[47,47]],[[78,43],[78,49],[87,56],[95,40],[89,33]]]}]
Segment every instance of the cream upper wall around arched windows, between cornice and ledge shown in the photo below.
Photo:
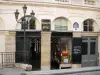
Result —
[{"label": "cream upper wall around arched windows, between cornice and ledge", "polygon": [[[19,10],[19,19],[23,17],[23,5],[0,5],[0,18],[4,21],[5,30],[15,30],[18,28],[14,12],[16,9]],[[83,31],[83,21],[86,19],[93,19],[95,21],[95,31],[100,29],[100,13],[94,10],[87,9],[75,9],[67,7],[47,7],[47,6],[37,6],[37,5],[27,5],[27,15],[30,14],[32,10],[35,12],[35,17],[37,18],[37,30],[41,30],[41,19],[51,19],[51,30],[54,30],[53,21],[58,17],[65,17],[69,20],[70,25],[68,25],[69,31],[75,31],[73,28],[73,23],[78,22],[79,28],[77,31]],[[62,11],[62,12],[61,12]],[[1,24],[3,26],[3,24]],[[20,29],[20,28],[18,28]]]}]

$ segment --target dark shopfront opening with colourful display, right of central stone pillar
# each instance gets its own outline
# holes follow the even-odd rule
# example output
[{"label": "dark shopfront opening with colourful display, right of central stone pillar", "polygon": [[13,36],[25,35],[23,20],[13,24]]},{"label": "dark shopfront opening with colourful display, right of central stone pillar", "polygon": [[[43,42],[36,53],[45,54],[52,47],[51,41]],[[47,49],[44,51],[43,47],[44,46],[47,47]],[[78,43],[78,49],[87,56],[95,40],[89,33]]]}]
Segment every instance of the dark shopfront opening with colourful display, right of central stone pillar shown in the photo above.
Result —
[{"label": "dark shopfront opening with colourful display, right of central stone pillar", "polygon": [[[64,51],[72,51],[72,37],[71,33],[52,32],[51,37],[51,69],[59,69],[60,64],[69,63],[68,57],[63,58]],[[66,59],[66,61],[65,61]]]}]

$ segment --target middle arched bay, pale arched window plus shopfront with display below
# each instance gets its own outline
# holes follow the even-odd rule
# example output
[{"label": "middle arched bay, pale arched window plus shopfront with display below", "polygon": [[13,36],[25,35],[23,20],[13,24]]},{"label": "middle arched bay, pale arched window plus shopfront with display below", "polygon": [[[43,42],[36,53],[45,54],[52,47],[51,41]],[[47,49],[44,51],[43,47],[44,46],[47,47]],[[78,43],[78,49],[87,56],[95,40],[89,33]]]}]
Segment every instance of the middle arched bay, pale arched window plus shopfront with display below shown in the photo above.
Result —
[{"label": "middle arched bay, pale arched window plus shopfront with display below", "polygon": [[[67,32],[70,29],[71,23],[65,17],[57,17],[54,19],[52,26],[54,32],[51,34],[51,69],[59,69],[61,64],[70,63],[70,60],[64,58],[62,53],[66,51],[71,55],[72,32]],[[69,67],[65,66],[65,68]]]}]

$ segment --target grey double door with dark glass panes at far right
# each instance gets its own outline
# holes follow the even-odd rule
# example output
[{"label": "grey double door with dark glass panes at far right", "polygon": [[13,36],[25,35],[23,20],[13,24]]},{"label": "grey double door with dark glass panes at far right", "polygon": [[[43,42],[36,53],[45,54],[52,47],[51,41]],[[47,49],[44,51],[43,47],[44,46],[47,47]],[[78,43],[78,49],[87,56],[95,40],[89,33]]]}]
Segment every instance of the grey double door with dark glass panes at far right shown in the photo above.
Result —
[{"label": "grey double door with dark glass panes at far right", "polygon": [[82,37],[82,67],[97,65],[97,37]]}]

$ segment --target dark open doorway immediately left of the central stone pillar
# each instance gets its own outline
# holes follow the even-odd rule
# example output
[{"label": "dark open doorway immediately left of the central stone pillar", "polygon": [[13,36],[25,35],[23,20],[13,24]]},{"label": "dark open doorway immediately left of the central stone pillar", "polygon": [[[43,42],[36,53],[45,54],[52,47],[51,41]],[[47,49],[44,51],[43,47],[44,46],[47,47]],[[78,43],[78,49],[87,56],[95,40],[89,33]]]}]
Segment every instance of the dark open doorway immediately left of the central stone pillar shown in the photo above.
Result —
[{"label": "dark open doorway immediately left of the central stone pillar", "polygon": [[29,64],[33,70],[40,70],[41,66],[41,42],[39,38],[30,39],[30,59]]}]

